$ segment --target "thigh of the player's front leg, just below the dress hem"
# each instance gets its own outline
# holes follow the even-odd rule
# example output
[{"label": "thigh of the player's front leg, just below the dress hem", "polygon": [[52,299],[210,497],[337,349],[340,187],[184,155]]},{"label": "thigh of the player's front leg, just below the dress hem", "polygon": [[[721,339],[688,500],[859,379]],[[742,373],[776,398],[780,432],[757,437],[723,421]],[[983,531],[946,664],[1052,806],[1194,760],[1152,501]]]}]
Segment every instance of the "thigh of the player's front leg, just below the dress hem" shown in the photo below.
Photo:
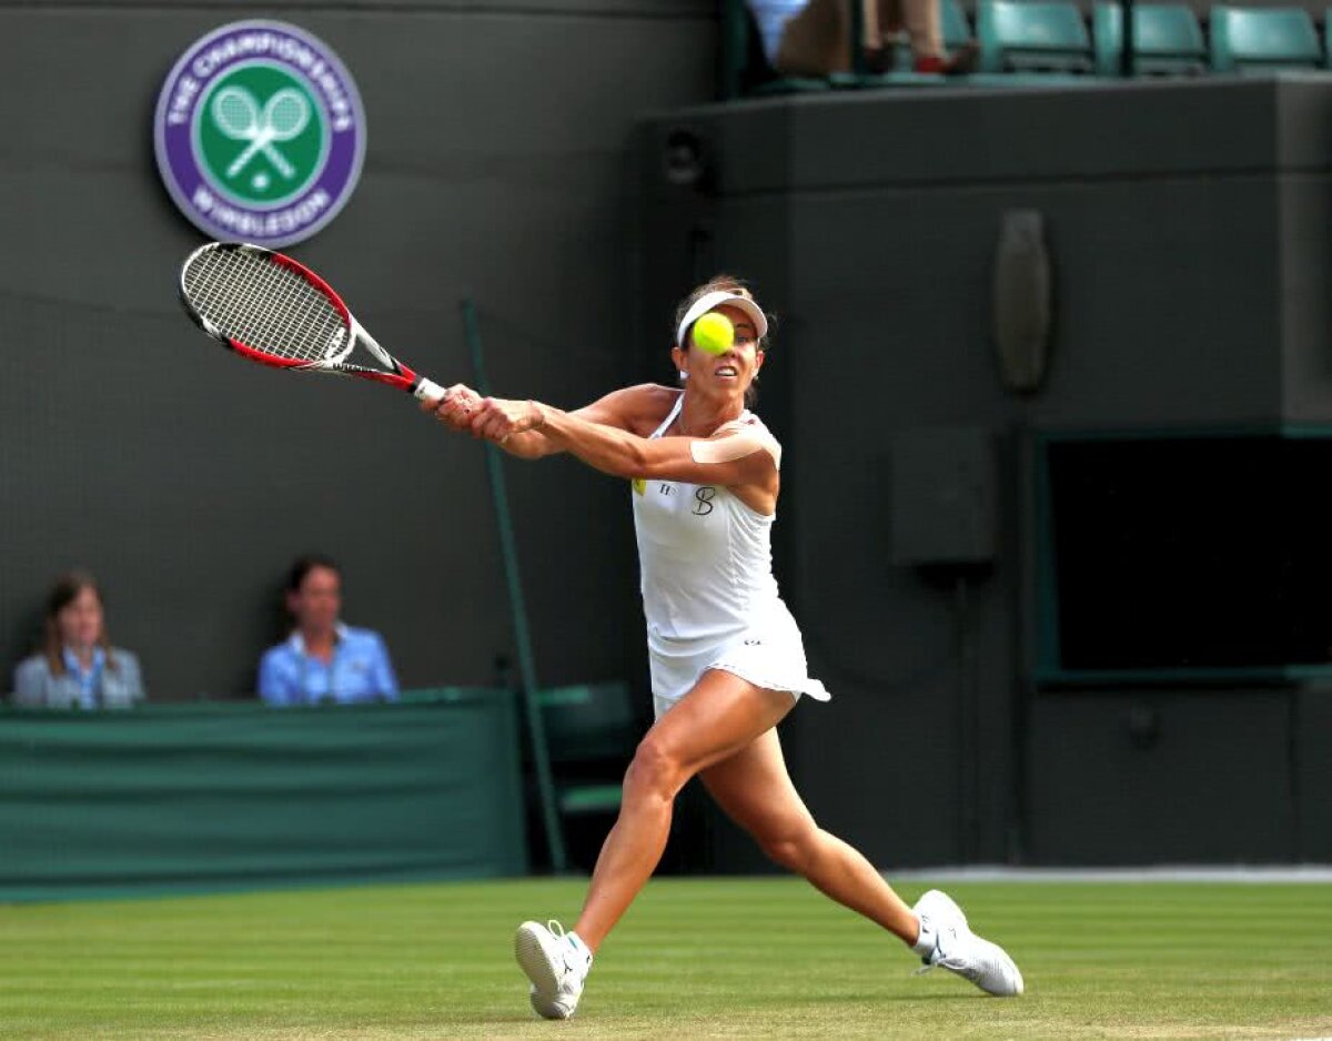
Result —
[{"label": "thigh of the player's front leg, just below the dress hem", "polygon": [[669,759],[693,775],[773,729],[793,704],[785,691],[757,687],[733,672],[710,668],[653,724],[639,751]]}]

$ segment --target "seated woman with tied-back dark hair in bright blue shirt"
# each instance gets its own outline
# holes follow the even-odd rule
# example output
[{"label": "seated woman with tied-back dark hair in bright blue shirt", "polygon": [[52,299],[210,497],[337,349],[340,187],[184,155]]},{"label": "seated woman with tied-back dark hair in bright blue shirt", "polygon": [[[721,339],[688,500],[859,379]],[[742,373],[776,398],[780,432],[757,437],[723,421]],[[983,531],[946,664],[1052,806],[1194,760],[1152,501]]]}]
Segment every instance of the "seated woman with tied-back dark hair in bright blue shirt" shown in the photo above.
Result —
[{"label": "seated woman with tied-back dark hair in bright blue shirt", "polygon": [[258,666],[258,696],[268,704],[394,700],[398,680],[380,634],[338,620],[342,578],[324,556],[302,556],[286,580],[290,638]]}]

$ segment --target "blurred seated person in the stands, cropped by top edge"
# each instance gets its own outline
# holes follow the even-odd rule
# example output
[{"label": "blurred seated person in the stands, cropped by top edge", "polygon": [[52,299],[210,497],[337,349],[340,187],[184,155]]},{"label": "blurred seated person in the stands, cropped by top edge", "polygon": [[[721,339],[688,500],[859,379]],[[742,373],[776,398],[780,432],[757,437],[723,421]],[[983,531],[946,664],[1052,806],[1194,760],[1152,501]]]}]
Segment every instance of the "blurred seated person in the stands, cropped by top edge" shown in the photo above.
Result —
[{"label": "blurred seated person in the stands, cropped by top edge", "polygon": [[864,65],[890,72],[898,36],[906,31],[915,72],[964,75],[978,48],[943,49],[942,0],[749,0],[769,65],[786,76],[827,76],[851,69],[851,4],[860,4]]}]

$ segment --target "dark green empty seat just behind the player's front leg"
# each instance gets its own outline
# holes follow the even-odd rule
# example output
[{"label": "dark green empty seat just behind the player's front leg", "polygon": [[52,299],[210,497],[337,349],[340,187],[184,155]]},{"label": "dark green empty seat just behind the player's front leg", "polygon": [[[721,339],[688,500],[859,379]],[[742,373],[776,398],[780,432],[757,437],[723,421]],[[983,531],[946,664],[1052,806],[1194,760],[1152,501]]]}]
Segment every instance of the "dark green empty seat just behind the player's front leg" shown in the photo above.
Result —
[{"label": "dark green empty seat just behind the player's front leg", "polygon": [[537,696],[555,799],[565,816],[619,808],[619,783],[641,736],[629,684],[550,687]]}]

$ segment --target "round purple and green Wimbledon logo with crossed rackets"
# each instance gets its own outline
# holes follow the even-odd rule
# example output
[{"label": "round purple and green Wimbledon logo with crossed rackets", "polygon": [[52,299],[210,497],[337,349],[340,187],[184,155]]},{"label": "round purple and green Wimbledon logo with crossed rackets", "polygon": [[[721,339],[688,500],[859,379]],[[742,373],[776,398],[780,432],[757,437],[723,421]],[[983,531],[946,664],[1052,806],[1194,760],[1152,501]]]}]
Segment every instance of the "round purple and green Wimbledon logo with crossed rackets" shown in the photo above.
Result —
[{"label": "round purple and green Wimbledon logo with crossed rackets", "polygon": [[365,156],[352,76],[281,21],[236,21],[196,41],[163,85],[153,132],[181,212],[214,238],[265,246],[333,220]]}]

